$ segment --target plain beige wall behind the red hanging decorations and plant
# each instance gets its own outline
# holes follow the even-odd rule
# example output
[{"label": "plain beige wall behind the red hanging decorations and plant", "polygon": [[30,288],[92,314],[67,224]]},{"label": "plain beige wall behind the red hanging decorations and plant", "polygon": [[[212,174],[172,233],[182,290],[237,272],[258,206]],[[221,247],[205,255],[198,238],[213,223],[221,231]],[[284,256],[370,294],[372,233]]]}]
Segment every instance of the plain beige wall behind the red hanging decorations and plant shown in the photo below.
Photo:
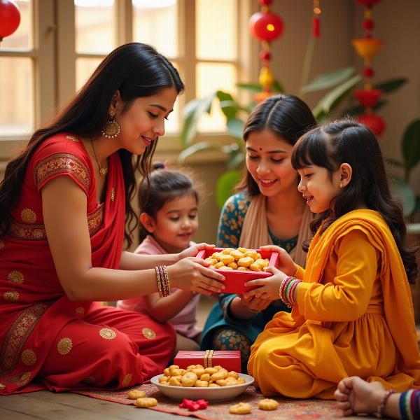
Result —
[{"label": "plain beige wall behind the red hanging decorations and plant", "polygon": [[[354,52],[350,41],[363,36],[363,7],[354,0],[323,0],[321,8],[321,37],[316,41],[311,78],[343,66],[362,69],[363,61]],[[272,43],[272,70],[287,93],[298,94],[302,63],[311,34],[311,1],[274,1],[272,10],[284,22],[283,36]],[[379,111],[387,125],[380,139],[384,155],[400,158],[402,133],[411,120],[420,116],[420,1],[381,1],[374,6],[373,18],[376,25],[374,36],[385,41],[373,62],[375,80],[409,78],[409,83],[391,94],[388,104]],[[308,94],[306,100],[313,107],[320,96]],[[223,172],[223,164],[198,165],[196,169],[211,192],[216,177]],[[411,181],[417,194],[420,193],[419,180],[420,165]],[[211,196],[207,206],[200,210],[197,240],[214,240],[218,216],[214,196]]]}]

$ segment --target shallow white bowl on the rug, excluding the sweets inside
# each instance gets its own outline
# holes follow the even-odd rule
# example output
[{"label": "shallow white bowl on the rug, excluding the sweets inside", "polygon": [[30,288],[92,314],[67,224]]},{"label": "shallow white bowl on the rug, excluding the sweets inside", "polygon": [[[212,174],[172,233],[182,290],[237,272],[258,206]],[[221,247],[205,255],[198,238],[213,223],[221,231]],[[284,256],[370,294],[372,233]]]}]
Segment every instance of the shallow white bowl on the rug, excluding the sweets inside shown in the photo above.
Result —
[{"label": "shallow white bowl on the rug, excluding the sweets inside", "polygon": [[249,385],[253,384],[253,377],[248,374],[239,373],[239,377],[245,379],[245,384],[220,386],[220,387],[195,387],[195,386],[172,386],[159,383],[159,378],[163,374],[157,374],[151,379],[153,385],[156,385],[162,394],[172,398],[172,400],[181,401],[183,398],[190,400],[204,399],[207,401],[226,401],[232,400],[237,395],[243,393]]}]

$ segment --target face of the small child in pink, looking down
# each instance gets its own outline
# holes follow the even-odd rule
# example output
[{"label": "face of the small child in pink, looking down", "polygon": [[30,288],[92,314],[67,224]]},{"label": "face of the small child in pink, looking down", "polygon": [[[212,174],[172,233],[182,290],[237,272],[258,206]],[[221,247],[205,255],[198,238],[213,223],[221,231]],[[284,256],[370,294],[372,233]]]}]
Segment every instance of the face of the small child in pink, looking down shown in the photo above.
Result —
[{"label": "face of the small child in pink, looking down", "polygon": [[198,228],[195,197],[183,195],[165,202],[152,223],[153,237],[169,253],[178,253],[188,248]]}]

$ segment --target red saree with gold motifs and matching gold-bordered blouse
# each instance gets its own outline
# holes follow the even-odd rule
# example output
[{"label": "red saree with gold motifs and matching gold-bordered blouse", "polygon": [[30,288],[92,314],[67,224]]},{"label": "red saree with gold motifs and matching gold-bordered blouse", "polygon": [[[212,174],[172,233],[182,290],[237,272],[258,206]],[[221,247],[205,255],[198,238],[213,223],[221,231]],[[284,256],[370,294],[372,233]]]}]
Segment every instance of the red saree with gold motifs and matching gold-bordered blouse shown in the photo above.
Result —
[{"label": "red saree with gold motifs and matching gold-bordered blouse", "polygon": [[41,202],[41,188],[56,176],[69,176],[87,196],[92,265],[116,269],[120,262],[125,187],[118,154],[109,158],[104,203],[97,203],[91,174],[82,141],[67,133],[44,141],[27,167],[10,232],[0,239],[0,395],[141,384],[172,356],[170,325],[71,302],[59,283]]}]

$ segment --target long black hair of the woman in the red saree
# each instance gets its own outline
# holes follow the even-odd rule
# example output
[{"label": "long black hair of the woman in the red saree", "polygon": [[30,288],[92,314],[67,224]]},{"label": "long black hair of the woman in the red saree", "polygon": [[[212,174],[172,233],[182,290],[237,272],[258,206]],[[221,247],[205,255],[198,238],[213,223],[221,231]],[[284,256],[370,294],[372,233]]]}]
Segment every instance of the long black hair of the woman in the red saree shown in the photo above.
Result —
[{"label": "long black hair of the woman in the red saree", "polygon": [[[134,99],[153,96],[165,87],[174,87],[178,93],[184,89],[178,71],[150,45],[127,43],[106,56],[66,108],[50,125],[34,132],[25,150],[8,163],[0,184],[0,237],[10,228],[10,213],[18,204],[29,160],[45,139],[59,132],[97,137],[108,120],[109,105],[117,90],[125,102],[123,112],[126,112]],[[118,151],[125,183],[125,239],[128,246],[132,244],[132,232],[137,225],[130,204],[136,189],[135,172],[139,170],[148,178],[155,147],[156,141],[153,141],[135,162],[132,153],[124,149]],[[135,224],[130,228],[133,221]]]}]

